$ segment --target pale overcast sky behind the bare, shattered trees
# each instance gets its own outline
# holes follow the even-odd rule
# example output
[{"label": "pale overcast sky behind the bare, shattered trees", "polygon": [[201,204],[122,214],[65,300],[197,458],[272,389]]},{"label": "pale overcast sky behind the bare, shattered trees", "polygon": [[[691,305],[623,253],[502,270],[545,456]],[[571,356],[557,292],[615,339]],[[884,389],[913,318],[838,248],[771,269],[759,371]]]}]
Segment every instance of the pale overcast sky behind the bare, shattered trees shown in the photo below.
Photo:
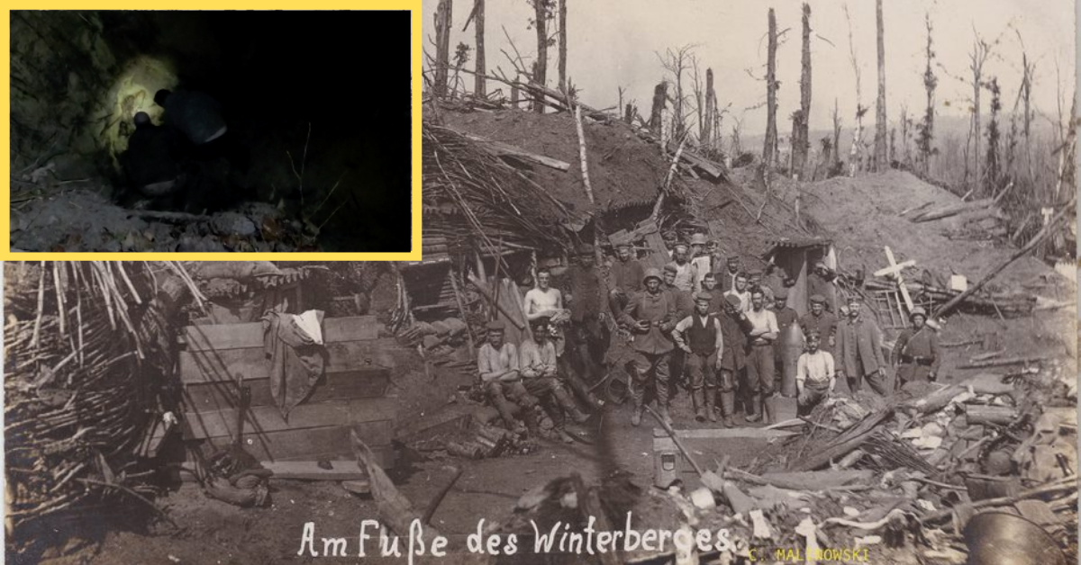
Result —
[{"label": "pale overcast sky behind the bare, shattered trees", "polygon": [[[863,104],[871,111],[865,125],[873,123],[877,95],[875,2],[850,0],[853,41],[862,67]],[[428,37],[435,33],[432,14],[438,0],[423,0],[425,50],[433,54]],[[473,29],[463,32],[472,0],[454,2],[453,45],[473,44]],[[813,95],[811,126],[828,130],[833,99],[840,104],[845,129],[851,127],[856,106],[855,77],[850,60],[849,26],[841,0],[812,0]],[[569,0],[568,75],[583,91],[583,100],[596,107],[617,104],[617,88],[627,90],[643,116],[649,116],[653,85],[663,69],[655,52],[697,43],[702,66],[712,67],[717,97],[721,107],[732,104],[742,116],[745,134],[765,129],[764,109],[749,109],[765,98],[764,83],[748,76],[764,75],[766,11],[774,8],[777,27],[791,28],[777,54],[778,130],[788,135],[788,116],[799,107],[800,6],[798,0]],[[903,104],[909,112],[924,106],[922,73],[924,67],[924,12],[931,13],[934,49],[938,63],[950,73],[971,76],[969,52],[973,27],[988,41],[1001,38],[995,48],[999,55],[989,60],[985,77],[997,76],[1003,92],[1003,106],[1013,107],[1020,82],[1020,45],[1013,25],[1022,35],[1030,60],[1036,60],[1033,103],[1037,109],[1055,115],[1058,89],[1056,65],[1060,69],[1066,96],[1075,84],[1075,0],[886,0],[884,2],[886,98],[891,120],[897,120]],[[502,27],[513,39],[521,55],[531,63],[536,56],[536,35],[528,29],[533,10],[528,0],[486,1],[486,58],[489,69],[512,68],[501,50],[511,52]],[[827,41],[828,40],[828,41]],[[830,44],[832,43],[832,45]],[[548,83],[557,82],[557,54],[549,49]],[[467,64],[472,68],[472,62]],[[936,111],[939,116],[963,116],[969,109],[972,88],[935,69],[938,75]],[[467,78],[471,88],[471,78]],[[490,85],[492,90],[496,85]],[[689,86],[684,86],[689,90]],[[982,94],[980,105],[988,111],[989,95]],[[1065,111],[1068,111],[1068,104]],[[725,118],[724,131],[732,121]]]}]

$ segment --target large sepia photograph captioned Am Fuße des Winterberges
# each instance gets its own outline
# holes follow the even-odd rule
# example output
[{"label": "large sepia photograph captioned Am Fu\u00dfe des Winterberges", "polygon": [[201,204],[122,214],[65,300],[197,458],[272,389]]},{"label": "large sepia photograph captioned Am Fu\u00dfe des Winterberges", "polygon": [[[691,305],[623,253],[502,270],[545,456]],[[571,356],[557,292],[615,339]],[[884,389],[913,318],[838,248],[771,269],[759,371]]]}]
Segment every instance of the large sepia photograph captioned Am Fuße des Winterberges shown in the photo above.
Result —
[{"label": "large sepia photograph captioned Am Fu\u00dfe des Winterberges", "polygon": [[3,265],[5,562],[1078,560],[1075,2],[422,9],[422,259]]}]

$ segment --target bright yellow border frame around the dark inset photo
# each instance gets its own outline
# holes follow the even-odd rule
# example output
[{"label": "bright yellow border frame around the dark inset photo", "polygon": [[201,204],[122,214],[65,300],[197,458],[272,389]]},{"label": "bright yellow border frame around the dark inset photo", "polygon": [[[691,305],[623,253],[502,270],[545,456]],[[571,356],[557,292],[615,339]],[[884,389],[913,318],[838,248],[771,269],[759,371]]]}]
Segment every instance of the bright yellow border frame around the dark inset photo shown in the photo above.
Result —
[{"label": "bright yellow border frame around the dark inset photo", "polygon": [[[19,2],[28,5],[9,6],[8,17],[0,24],[2,33],[4,55],[0,65],[0,81],[5,86],[8,95],[3,96],[2,110],[4,116],[11,116],[11,12],[15,10],[146,10],[145,2],[134,2],[132,0],[112,0],[106,2],[95,2],[92,8],[79,5],[82,2],[71,1],[46,1]],[[184,2],[181,5],[155,6],[156,10],[301,10],[294,2],[286,1],[263,1],[231,0],[227,5],[221,5],[209,0],[193,0]],[[293,4],[293,5],[290,5]],[[0,217],[0,227],[9,232],[6,242],[0,244],[0,260],[421,260],[421,54],[423,53],[421,36],[421,0],[355,0],[344,2],[341,0],[313,0],[305,2],[303,10],[409,10],[412,12],[412,95],[413,95],[413,183],[411,198],[411,216],[413,229],[409,252],[396,253],[12,253],[11,252],[11,181],[4,185],[0,193],[0,206],[3,208]],[[8,139],[9,153],[11,152],[11,120],[4,122],[3,138]],[[4,161],[2,165],[3,176],[11,178],[11,160]]]}]

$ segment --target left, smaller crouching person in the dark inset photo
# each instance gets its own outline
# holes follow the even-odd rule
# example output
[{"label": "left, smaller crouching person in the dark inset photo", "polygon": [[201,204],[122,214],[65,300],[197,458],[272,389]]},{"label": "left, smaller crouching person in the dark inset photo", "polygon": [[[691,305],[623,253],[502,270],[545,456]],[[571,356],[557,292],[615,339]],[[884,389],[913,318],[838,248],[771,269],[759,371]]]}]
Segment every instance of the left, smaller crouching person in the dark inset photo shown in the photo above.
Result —
[{"label": "left, smaller crouching person in the dark inset photo", "polygon": [[173,133],[150,122],[146,112],[136,113],[135,133],[128,138],[128,150],[120,154],[129,185],[150,198],[178,191],[184,186],[178,157]]}]

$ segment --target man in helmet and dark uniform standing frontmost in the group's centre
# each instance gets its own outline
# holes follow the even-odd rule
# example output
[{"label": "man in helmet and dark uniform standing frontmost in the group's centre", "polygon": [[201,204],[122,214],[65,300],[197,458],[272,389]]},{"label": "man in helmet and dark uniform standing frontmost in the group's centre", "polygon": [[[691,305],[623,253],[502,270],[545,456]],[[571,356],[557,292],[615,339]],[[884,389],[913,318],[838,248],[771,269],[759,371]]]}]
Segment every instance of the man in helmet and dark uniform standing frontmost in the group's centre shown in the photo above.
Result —
[{"label": "man in helmet and dark uniform standing frontmost in the group's centre", "polygon": [[671,295],[660,290],[660,271],[646,269],[642,277],[645,292],[632,296],[620,317],[620,322],[635,334],[636,354],[630,362],[635,381],[631,387],[635,400],[635,412],[630,417],[632,426],[642,422],[642,406],[648,390],[656,395],[660,417],[671,422],[668,416],[668,358],[673,348],[669,332],[676,326],[676,307]]}]

